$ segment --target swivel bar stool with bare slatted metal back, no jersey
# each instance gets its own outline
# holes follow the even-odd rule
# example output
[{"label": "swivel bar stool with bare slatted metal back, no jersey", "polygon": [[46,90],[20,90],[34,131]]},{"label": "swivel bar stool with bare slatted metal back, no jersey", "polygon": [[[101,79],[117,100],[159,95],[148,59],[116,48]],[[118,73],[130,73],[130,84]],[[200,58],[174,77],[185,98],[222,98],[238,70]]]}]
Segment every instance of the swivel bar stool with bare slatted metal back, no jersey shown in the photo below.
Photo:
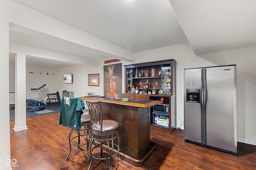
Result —
[{"label": "swivel bar stool with bare slatted metal back, no jersey", "polygon": [[[86,104],[89,109],[90,117],[91,117],[91,129],[92,129],[92,139],[90,141],[89,149],[90,149],[90,156],[92,158],[98,160],[106,160],[109,159],[109,169],[112,170],[112,158],[118,154],[120,160],[122,158],[119,154],[119,123],[114,120],[103,120],[102,119],[102,107],[100,101],[90,100],[88,98],[85,99]],[[118,139],[118,143],[114,143],[114,139]],[[95,141],[99,144],[96,145]],[[92,148],[92,143],[94,143],[94,147]],[[108,148],[108,157],[102,157],[102,150],[103,145],[107,144]],[[100,156],[97,157],[92,154],[93,150],[97,147],[100,147]],[[114,149],[116,149],[116,153],[113,154]],[[90,159],[90,165],[88,170],[90,170],[92,166],[92,158]]]}]

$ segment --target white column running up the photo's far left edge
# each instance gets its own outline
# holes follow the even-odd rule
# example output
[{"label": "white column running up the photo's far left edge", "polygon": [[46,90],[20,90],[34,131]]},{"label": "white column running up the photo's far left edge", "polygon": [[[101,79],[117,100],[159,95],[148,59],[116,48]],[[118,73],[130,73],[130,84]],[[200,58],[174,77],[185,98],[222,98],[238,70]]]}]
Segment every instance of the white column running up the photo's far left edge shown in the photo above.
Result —
[{"label": "white column running up the photo's far left edge", "polygon": [[[2,3],[2,2],[1,2]],[[1,118],[0,118],[0,169],[10,170],[10,109],[9,109],[9,22],[0,5],[0,59],[1,59]]]}]

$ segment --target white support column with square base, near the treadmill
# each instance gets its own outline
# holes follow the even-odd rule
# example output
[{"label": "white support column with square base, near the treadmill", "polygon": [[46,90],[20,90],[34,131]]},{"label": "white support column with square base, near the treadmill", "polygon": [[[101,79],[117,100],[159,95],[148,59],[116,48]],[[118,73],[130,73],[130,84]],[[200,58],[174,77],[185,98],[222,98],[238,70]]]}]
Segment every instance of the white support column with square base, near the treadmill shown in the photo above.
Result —
[{"label": "white support column with square base, near the treadmill", "polygon": [[15,55],[15,131],[28,129],[26,126],[26,55]]}]

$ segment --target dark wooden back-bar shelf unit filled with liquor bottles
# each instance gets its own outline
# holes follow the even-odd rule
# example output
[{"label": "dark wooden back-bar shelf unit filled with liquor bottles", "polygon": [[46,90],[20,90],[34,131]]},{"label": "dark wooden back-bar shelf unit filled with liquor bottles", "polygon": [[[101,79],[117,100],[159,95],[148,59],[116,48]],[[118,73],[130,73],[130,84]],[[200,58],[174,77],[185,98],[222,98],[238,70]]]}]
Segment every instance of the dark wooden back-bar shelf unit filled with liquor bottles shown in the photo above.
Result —
[{"label": "dark wooden back-bar shelf unit filled with liquor bottles", "polygon": [[[130,100],[160,100],[164,98],[164,104],[169,105],[169,128],[153,125],[153,108],[151,108],[151,129],[172,133],[176,125],[176,61],[170,59],[124,65],[124,70],[125,93],[122,94],[122,98]],[[147,70],[149,74],[146,77]],[[147,81],[148,88],[146,88]],[[141,92],[132,93],[132,87],[135,89],[137,87]],[[156,90],[156,94],[152,94],[153,90]],[[162,94],[159,93],[160,90],[162,90]]]}]

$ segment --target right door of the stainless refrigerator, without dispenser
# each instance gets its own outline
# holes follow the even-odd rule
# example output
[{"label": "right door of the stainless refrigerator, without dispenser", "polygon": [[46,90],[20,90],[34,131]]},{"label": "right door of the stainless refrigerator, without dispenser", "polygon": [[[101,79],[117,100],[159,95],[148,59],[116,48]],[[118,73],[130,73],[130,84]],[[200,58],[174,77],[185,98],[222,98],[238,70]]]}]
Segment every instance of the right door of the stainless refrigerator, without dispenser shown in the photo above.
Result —
[{"label": "right door of the stainless refrigerator, without dispenser", "polygon": [[236,66],[206,68],[206,145],[237,152]]}]

